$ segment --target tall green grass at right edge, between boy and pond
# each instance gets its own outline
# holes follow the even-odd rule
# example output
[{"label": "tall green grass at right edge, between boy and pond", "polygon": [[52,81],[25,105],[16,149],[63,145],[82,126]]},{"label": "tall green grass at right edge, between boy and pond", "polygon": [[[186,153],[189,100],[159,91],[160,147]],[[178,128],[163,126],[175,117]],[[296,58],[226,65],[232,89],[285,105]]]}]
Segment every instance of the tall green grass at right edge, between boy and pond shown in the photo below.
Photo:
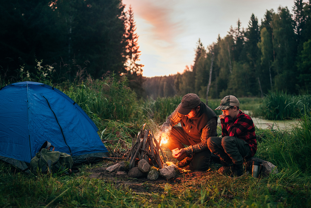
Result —
[{"label": "tall green grass at right edge, between boy and pond", "polygon": [[291,126],[289,130],[259,130],[256,134],[261,137],[257,157],[292,173],[311,173],[310,114],[304,114],[299,124]]}]

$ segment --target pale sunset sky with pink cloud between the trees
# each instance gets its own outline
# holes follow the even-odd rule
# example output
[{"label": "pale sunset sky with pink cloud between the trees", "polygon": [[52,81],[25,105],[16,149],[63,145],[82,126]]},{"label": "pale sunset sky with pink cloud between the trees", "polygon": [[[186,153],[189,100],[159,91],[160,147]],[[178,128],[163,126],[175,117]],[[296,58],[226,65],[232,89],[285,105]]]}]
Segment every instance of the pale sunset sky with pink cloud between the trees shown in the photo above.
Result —
[{"label": "pale sunset sky with pink cloud between the trees", "polygon": [[[306,1],[306,0],[305,0]],[[305,2],[304,1],[304,2]],[[182,73],[193,65],[200,38],[207,48],[235,28],[244,29],[252,13],[261,23],[267,10],[279,6],[292,11],[294,0],[122,0],[132,6],[143,76]]]}]

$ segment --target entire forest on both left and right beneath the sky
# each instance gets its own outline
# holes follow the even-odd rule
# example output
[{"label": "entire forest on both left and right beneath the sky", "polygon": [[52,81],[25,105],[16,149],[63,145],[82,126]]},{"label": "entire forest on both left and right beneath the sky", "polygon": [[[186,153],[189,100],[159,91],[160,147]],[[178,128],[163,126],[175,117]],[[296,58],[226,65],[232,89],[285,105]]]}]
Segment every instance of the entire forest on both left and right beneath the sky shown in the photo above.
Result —
[{"label": "entire forest on both left and right beneath the sky", "polygon": [[134,12],[122,0],[3,0],[0,18],[1,86],[41,73],[52,83],[127,76],[138,98],[311,89],[311,0],[267,10],[261,23],[252,15],[245,29],[238,20],[207,47],[199,39],[193,65],[154,78],[142,76]]}]

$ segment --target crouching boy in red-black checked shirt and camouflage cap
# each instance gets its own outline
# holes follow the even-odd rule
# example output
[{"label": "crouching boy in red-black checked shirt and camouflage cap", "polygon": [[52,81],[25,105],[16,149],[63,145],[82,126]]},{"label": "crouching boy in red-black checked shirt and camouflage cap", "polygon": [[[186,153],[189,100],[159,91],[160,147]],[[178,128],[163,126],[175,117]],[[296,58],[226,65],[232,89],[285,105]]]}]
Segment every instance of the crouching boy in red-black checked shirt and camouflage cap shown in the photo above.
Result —
[{"label": "crouching boy in red-black checked shirt and camouflage cap", "polygon": [[218,173],[231,177],[245,173],[243,159],[253,157],[257,151],[255,126],[250,116],[239,110],[239,100],[232,96],[224,97],[220,106],[215,110],[222,110],[220,115],[221,135],[207,140],[208,148],[220,157],[223,167]]}]

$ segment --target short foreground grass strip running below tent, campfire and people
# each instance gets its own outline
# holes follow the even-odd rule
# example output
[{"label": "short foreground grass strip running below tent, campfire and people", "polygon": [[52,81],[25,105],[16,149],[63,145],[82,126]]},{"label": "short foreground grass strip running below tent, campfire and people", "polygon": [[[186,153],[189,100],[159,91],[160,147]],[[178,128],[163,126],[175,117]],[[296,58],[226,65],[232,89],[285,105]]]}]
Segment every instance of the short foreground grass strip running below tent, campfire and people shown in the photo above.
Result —
[{"label": "short foreground grass strip running below tent, campfire and people", "polygon": [[[230,179],[216,167],[171,181],[92,179],[88,172],[109,163],[82,165],[69,176],[26,175],[0,162],[1,207],[310,207],[309,178],[281,171],[273,177]],[[128,183],[130,181],[131,183]],[[131,185],[128,185],[128,184]],[[5,185],[4,185],[5,184]],[[133,185],[134,184],[134,185]]]}]

